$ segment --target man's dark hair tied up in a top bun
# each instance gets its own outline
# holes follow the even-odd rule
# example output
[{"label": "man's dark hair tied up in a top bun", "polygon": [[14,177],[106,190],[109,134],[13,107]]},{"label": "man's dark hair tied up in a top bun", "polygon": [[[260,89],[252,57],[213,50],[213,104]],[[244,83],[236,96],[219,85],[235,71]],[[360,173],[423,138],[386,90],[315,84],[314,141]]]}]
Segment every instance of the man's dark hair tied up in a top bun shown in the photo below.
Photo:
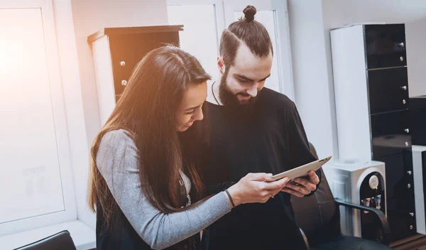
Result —
[{"label": "man's dark hair tied up in a top bun", "polygon": [[228,29],[222,32],[220,38],[219,53],[224,58],[226,66],[234,65],[236,50],[242,43],[245,43],[255,55],[263,58],[269,55],[269,51],[273,54],[272,42],[268,31],[258,21],[254,20],[256,8],[247,6],[243,11],[244,18],[231,23]]}]

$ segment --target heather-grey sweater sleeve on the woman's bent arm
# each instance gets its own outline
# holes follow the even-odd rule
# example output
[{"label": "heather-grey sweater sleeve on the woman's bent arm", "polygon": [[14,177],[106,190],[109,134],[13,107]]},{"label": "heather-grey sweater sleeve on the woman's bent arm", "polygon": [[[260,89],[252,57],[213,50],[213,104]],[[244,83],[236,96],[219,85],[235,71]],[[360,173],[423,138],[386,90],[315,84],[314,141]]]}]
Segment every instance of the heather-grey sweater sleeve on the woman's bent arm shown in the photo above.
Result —
[{"label": "heather-grey sweater sleeve on the woman's bent arm", "polygon": [[133,229],[153,249],[191,237],[231,211],[224,192],[190,210],[164,214],[143,194],[138,169],[138,150],[127,131],[109,131],[97,153],[97,168]]}]

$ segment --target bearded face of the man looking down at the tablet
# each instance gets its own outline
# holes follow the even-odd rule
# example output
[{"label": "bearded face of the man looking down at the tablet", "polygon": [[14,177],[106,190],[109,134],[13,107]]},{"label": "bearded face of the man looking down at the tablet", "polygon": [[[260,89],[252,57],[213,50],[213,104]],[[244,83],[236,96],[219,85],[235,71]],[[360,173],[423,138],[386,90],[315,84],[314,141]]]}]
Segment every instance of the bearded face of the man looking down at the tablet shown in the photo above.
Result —
[{"label": "bearded face of the man looking down at the tablet", "polygon": [[241,106],[253,104],[257,94],[271,75],[272,53],[260,58],[251,53],[244,43],[239,46],[234,65],[224,67],[219,58],[219,67],[222,66],[222,80],[219,87],[219,97],[226,106]]}]

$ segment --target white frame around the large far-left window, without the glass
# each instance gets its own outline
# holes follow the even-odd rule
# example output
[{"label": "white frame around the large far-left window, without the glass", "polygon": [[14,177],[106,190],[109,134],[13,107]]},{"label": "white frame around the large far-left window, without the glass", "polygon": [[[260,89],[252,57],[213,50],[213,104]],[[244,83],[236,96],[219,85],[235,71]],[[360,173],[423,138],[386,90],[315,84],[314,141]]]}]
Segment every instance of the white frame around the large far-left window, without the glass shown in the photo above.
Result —
[{"label": "white frame around the large far-left window, without the glass", "polygon": [[[50,224],[58,224],[77,219],[75,192],[72,178],[72,165],[70,159],[70,146],[67,133],[67,121],[65,117],[65,103],[62,93],[60,66],[58,58],[58,45],[56,43],[55,20],[52,0],[0,0],[0,9],[40,9],[43,22],[45,39],[45,52],[48,63],[48,77],[50,85],[50,97],[52,102],[53,120],[55,124],[56,143],[58,147],[58,160],[62,194],[65,209],[50,214],[42,214],[34,217],[16,219],[0,224],[0,236],[22,232]],[[0,192],[10,192],[1,190]]]}]

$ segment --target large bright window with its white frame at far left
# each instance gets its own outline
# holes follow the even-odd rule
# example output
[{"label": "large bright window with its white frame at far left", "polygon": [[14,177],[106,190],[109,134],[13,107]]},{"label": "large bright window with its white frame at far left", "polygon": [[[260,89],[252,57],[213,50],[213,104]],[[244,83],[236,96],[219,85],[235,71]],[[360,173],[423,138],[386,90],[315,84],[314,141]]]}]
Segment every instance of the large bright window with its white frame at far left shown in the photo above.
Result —
[{"label": "large bright window with its white frame at far left", "polygon": [[0,236],[76,217],[52,6],[35,2],[0,9]]}]

